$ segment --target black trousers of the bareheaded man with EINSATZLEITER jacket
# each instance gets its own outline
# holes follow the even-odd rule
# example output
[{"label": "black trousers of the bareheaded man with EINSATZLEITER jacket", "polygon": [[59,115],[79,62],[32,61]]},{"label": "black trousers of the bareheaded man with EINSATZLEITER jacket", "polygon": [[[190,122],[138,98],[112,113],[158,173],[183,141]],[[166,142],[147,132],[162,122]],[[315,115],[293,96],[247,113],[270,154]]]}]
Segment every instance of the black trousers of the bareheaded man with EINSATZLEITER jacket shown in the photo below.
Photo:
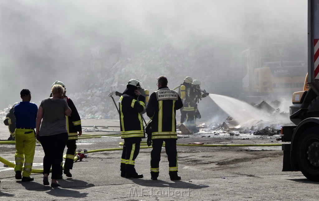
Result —
[{"label": "black trousers of the bareheaded man with EINSATZLEITER jacket", "polygon": [[159,176],[159,161],[160,154],[162,151],[163,142],[165,142],[165,151],[168,159],[169,175],[177,175],[177,150],[176,150],[176,139],[155,139],[152,140],[152,151],[151,151],[151,176]]}]

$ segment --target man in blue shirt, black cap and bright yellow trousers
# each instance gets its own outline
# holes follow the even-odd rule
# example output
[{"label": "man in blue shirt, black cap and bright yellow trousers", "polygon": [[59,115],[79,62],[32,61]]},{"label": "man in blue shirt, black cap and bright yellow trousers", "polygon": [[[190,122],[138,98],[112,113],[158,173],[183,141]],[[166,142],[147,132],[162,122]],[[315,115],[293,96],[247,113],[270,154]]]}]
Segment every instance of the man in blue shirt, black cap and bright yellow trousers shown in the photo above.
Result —
[{"label": "man in blue shirt, black cap and bright yellow trousers", "polygon": [[[14,106],[13,114],[16,118],[16,153],[14,171],[16,179],[22,179],[23,182],[33,181],[30,177],[32,163],[35,151],[35,121],[37,118],[38,107],[30,103],[31,92],[29,89],[22,89],[20,92],[22,102]],[[23,173],[22,172],[22,166]]]}]

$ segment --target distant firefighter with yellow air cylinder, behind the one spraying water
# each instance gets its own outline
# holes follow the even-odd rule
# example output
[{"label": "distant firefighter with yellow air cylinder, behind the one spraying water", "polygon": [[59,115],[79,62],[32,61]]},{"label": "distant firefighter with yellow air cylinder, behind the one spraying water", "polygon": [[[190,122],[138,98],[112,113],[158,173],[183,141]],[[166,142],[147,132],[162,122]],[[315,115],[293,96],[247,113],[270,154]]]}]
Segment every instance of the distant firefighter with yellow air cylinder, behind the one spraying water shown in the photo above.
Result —
[{"label": "distant firefighter with yellow air cylinder, behind the one spraying water", "polygon": [[189,105],[189,95],[192,91],[192,81],[193,79],[191,77],[186,77],[178,91],[178,94],[183,100],[183,107],[181,108],[181,123],[184,124],[187,121],[188,113],[194,110],[193,107]]}]

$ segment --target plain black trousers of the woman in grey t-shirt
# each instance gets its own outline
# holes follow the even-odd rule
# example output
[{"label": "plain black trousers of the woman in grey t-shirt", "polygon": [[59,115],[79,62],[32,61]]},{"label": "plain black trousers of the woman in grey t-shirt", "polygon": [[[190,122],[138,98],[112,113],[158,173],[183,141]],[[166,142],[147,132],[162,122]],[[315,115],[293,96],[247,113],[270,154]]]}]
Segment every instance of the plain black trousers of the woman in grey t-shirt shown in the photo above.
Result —
[{"label": "plain black trousers of the woman in grey t-shirt", "polygon": [[43,174],[50,174],[52,166],[51,179],[58,179],[59,177],[59,169],[68,138],[68,133],[40,136],[40,142],[44,151]]}]

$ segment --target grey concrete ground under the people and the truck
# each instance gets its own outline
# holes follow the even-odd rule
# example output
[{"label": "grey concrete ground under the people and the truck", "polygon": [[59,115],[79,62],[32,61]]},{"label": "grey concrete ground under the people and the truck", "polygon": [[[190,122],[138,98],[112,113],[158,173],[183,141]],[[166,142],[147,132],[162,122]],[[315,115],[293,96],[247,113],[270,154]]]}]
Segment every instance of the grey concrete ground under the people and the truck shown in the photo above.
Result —
[{"label": "grey concrete ground under the people and the truck", "polygon": [[[118,120],[82,120],[84,128],[118,126]],[[90,127],[85,127],[90,126]],[[91,127],[92,126],[92,127]],[[101,127],[98,127],[102,129]],[[118,127],[103,128],[117,131]],[[83,134],[111,134],[83,132]],[[115,133],[112,133],[115,134]],[[7,127],[0,122],[0,139],[8,138]],[[177,143],[188,144],[273,144],[269,136],[189,135]],[[119,148],[123,140],[115,136],[81,139],[79,149]],[[1,157],[14,163],[14,144],[0,144]],[[32,174],[33,182],[14,178],[13,168],[0,163],[0,200],[318,200],[316,182],[301,172],[282,172],[281,146],[272,147],[189,147],[178,146],[180,181],[171,181],[165,148],[162,150],[159,180],[150,180],[150,151],[141,149],[136,170],[144,178],[120,177],[121,150],[88,153],[74,163],[72,178],[58,180],[61,187],[42,183],[43,175]],[[35,148],[34,169],[42,169],[43,149]],[[49,179],[51,183],[51,180]]]}]

